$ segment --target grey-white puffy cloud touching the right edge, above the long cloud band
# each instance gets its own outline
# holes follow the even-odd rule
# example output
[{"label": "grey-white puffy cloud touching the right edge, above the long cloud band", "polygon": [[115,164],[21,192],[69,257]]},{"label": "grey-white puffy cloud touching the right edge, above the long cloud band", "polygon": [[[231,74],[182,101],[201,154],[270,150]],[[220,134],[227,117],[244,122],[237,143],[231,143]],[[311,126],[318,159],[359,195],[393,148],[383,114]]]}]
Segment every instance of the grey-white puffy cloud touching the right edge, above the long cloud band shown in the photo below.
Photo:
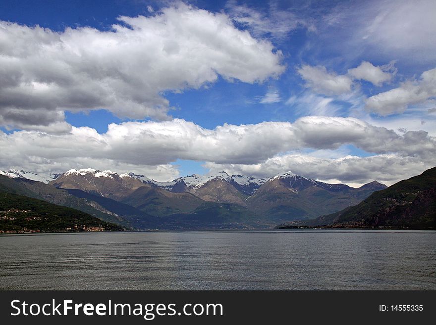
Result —
[{"label": "grey-white puffy cloud touching the right edge, above the long cloud band", "polygon": [[398,88],[378,93],[366,100],[366,108],[386,116],[402,113],[407,106],[425,102],[436,96],[436,68],[424,72],[419,80],[406,81]]}]

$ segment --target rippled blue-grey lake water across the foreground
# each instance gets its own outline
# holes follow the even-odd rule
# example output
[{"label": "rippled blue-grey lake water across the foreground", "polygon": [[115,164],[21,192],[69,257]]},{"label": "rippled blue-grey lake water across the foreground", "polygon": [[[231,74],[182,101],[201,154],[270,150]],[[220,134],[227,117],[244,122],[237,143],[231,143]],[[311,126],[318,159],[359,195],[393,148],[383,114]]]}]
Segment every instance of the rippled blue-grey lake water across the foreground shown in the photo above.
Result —
[{"label": "rippled blue-grey lake water across the foreground", "polygon": [[0,289],[436,289],[436,232],[1,235]]}]

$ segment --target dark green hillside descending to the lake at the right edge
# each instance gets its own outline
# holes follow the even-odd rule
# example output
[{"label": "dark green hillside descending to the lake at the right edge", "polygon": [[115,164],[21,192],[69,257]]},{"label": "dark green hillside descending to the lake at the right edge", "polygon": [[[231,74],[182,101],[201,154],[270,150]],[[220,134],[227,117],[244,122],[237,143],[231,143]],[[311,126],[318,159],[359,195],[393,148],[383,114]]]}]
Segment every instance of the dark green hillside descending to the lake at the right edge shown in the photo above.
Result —
[{"label": "dark green hillside descending to the lake at the right edge", "polygon": [[371,194],[356,206],[317,218],[311,224],[435,228],[436,167]]}]

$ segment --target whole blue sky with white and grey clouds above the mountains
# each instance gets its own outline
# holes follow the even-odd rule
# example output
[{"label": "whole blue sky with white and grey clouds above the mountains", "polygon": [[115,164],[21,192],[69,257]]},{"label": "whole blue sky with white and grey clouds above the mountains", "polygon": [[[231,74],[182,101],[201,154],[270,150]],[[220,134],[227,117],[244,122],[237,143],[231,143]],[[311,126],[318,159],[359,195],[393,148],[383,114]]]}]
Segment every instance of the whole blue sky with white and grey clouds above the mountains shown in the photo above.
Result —
[{"label": "whole blue sky with white and grey clouds above the mountains", "polygon": [[436,165],[436,2],[0,2],[0,170],[158,181]]}]

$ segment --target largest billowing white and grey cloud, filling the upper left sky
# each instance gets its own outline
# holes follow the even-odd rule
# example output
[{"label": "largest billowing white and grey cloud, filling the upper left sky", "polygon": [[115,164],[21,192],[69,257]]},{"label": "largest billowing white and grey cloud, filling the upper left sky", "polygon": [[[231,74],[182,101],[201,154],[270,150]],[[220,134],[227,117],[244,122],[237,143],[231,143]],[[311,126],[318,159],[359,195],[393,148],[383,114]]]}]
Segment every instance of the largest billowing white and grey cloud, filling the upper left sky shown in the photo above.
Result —
[{"label": "largest billowing white and grey cloud, filling the upper left sky", "polygon": [[63,32],[0,21],[4,123],[47,126],[54,121],[39,121],[43,111],[100,108],[166,120],[165,91],[197,89],[218,75],[255,83],[284,71],[280,51],[237,29],[224,13],[179,2],[149,17],[118,20],[110,31]]}]

